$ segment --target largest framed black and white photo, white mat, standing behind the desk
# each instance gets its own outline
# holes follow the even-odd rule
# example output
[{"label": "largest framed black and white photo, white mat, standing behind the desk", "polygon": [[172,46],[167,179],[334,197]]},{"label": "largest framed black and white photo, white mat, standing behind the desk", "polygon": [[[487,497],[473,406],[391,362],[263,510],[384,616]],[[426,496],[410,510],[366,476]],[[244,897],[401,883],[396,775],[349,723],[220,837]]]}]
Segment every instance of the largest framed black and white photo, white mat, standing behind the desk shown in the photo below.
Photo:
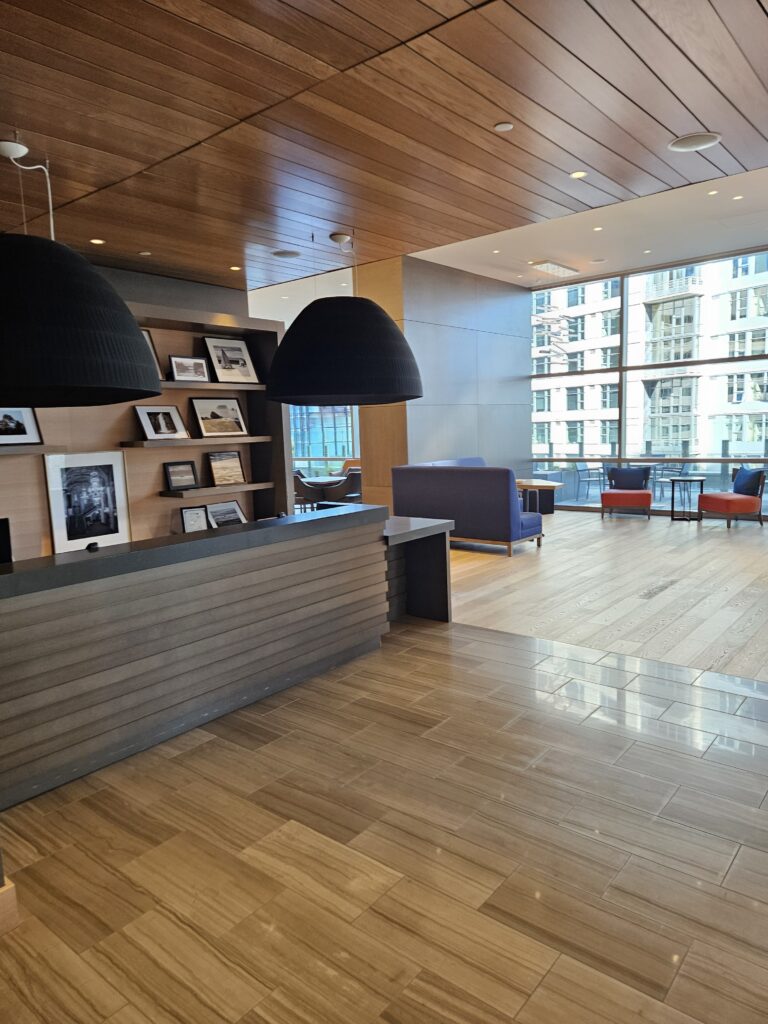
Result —
[{"label": "largest framed black and white photo, white mat, standing behind the desk", "polygon": [[122,452],[48,455],[45,473],[56,554],[130,541]]}]

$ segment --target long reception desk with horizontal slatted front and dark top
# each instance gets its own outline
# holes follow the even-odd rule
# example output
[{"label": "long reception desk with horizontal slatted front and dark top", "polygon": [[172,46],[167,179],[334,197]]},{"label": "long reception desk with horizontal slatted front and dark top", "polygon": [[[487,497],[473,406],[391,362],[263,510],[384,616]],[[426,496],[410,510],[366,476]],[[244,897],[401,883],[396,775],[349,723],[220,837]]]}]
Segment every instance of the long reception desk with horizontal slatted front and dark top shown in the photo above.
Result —
[{"label": "long reception desk with horizontal slatted front and dark top", "polygon": [[0,808],[378,646],[387,510],[0,568]]}]

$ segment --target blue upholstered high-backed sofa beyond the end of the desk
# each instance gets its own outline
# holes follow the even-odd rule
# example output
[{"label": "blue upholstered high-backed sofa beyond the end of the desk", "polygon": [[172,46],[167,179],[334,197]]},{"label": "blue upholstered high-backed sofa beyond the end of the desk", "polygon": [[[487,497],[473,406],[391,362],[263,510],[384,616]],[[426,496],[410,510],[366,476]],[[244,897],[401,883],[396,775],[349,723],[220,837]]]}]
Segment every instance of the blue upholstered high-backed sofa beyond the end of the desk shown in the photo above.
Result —
[{"label": "blue upholstered high-backed sofa beyond the end of the desk", "polygon": [[542,545],[542,517],[522,511],[515,474],[483,459],[395,466],[392,496],[395,515],[453,519],[454,540],[504,544],[508,555],[521,541]]}]

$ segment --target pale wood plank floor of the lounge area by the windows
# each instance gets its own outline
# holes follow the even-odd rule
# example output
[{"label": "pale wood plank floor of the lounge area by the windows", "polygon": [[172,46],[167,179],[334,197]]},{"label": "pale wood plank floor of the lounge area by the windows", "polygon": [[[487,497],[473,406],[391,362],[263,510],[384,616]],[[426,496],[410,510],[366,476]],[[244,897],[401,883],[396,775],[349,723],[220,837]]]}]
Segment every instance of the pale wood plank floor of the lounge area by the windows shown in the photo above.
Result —
[{"label": "pale wood plank floor of the lounge area by the windows", "polygon": [[768,527],[546,516],[540,551],[454,549],[458,622],[768,679]]}]

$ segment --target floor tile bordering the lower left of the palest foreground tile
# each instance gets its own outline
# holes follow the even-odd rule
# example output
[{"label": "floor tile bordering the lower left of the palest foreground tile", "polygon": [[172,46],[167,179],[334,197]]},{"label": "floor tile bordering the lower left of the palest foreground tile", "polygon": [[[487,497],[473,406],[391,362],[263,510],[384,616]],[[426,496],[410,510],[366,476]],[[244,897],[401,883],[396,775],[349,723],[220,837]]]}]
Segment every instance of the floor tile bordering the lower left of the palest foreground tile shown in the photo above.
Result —
[{"label": "floor tile bordering the lower left of the palest foreground tile", "polygon": [[156,900],[210,935],[221,935],[283,886],[194,833],[162,843],[123,867]]}]

